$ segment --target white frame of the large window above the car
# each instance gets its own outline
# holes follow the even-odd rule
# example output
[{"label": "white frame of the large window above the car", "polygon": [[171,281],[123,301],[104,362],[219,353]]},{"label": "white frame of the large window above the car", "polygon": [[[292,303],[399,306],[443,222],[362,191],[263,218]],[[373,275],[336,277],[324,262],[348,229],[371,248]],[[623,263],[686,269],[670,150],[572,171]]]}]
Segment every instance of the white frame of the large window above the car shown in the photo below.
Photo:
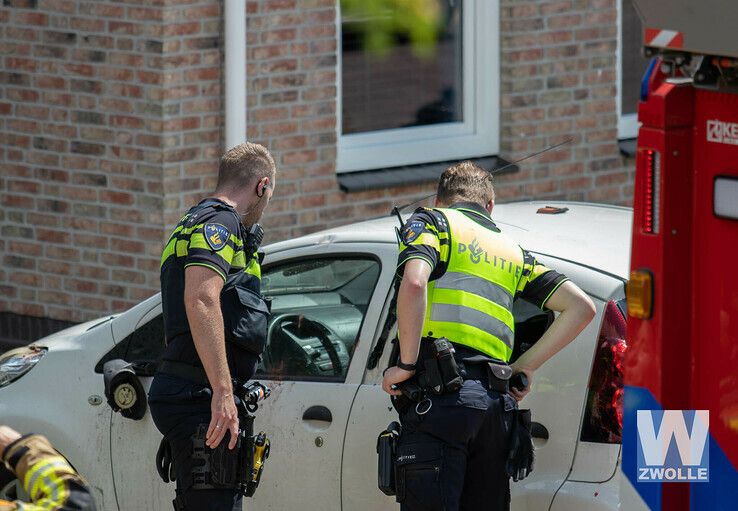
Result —
[{"label": "white frame of the large window above the car", "polygon": [[[499,0],[464,0],[463,122],[342,135],[341,12],[338,37],[337,130],[339,173],[396,167],[499,152]],[[471,62],[472,65],[467,63]]]}]

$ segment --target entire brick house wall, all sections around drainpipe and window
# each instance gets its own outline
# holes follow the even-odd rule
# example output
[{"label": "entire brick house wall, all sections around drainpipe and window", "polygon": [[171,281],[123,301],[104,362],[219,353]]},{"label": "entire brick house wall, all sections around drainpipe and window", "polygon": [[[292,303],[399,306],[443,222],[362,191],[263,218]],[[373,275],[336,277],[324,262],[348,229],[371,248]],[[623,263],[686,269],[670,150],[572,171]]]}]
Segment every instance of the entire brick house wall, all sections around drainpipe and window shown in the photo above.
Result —
[{"label": "entire brick house wall, all sections around drainpipe and window", "polygon": [[[501,154],[564,150],[498,196],[627,203],[616,0],[501,0]],[[433,183],[346,194],[334,0],[249,0],[248,137],[278,167],[267,241],[367,217]],[[169,229],[223,150],[222,2],[6,0],[0,7],[0,311],[81,321],[158,290]]]}]

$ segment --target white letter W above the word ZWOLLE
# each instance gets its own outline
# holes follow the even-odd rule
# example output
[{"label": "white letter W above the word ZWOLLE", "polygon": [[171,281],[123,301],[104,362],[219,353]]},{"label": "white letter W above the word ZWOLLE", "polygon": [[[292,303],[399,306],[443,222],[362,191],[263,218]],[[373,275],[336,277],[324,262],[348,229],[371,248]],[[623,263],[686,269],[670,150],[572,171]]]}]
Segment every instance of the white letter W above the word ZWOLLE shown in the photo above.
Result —
[{"label": "white letter W above the word ZWOLLE", "polygon": [[659,410],[638,410],[638,436],[643,447],[646,465],[663,466],[672,437],[676,440],[682,465],[696,466],[702,463],[707,444],[709,410],[695,410],[692,436],[687,433],[687,424],[682,410],[664,410],[658,434],[655,431],[654,414]]}]

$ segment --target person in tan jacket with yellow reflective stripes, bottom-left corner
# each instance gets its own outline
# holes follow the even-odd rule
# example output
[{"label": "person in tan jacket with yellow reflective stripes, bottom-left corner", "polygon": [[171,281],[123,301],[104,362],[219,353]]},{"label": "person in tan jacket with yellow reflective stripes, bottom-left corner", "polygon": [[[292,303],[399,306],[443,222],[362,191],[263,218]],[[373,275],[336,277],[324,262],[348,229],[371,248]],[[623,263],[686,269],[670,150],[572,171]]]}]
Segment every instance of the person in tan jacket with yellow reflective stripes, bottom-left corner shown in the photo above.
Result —
[{"label": "person in tan jacket with yellow reflective stripes, bottom-left corner", "polygon": [[28,504],[0,499],[0,511],[95,511],[87,483],[45,437],[0,426],[0,456],[0,469],[4,464],[32,500]]}]

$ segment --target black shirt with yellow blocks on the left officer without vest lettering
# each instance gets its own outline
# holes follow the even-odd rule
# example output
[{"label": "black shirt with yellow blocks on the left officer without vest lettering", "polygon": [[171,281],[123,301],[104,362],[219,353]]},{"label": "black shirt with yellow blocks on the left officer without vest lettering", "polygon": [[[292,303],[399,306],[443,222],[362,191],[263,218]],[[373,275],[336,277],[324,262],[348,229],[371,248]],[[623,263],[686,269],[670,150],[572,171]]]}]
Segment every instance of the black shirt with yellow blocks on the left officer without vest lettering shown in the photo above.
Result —
[{"label": "black shirt with yellow blocks on the left officer without vest lettering", "polygon": [[[200,366],[184,304],[184,271],[190,266],[204,266],[224,281],[229,274],[249,265],[258,267],[255,257],[246,257],[241,221],[235,210],[218,199],[217,208],[188,211],[174,228],[161,258],[161,296],[164,332],[168,343],[164,360]],[[259,278],[249,282],[259,292]],[[172,342],[175,340],[176,342]],[[228,348],[228,347],[227,347]],[[229,358],[229,365],[234,361]]]}]

